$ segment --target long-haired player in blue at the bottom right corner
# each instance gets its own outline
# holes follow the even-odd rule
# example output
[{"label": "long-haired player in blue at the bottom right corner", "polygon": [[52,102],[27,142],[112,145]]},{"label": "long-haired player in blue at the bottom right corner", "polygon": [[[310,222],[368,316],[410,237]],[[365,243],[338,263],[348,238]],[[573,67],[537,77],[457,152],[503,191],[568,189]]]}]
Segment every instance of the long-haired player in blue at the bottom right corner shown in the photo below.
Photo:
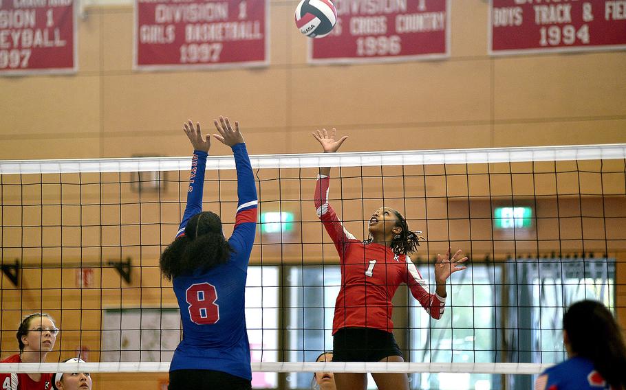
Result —
[{"label": "long-haired player in blue at the bottom right corner", "polygon": [[543,371],[537,390],[626,389],[626,347],[619,325],[600,302],[574,303],[563,315],[568,360]]}]

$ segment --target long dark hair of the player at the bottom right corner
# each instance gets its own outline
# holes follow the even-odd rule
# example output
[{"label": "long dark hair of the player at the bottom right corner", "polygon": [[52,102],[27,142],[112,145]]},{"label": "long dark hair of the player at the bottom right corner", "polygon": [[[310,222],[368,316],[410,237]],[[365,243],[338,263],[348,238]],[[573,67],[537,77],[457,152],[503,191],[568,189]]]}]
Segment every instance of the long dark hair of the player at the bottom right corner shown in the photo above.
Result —
[{"label": "long dark hair of the player at the bottom right corner", "polygon": [[574,303],[563,315],[563,330],[576,356],[592,360],[613,389],[626,389],[626,346],[619,325],[602,303]]}]

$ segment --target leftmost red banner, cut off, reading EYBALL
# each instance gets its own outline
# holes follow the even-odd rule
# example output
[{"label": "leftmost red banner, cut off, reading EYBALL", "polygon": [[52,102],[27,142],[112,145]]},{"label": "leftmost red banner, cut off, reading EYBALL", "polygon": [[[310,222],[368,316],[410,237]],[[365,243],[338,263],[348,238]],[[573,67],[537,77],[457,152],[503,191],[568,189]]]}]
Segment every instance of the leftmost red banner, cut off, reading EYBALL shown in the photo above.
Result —
[{"label": "leftmost red banner, cut off, reading EYBALL", "polygon": [[76,7],[74,0],[0,0],[0,76],[76,72]]}]

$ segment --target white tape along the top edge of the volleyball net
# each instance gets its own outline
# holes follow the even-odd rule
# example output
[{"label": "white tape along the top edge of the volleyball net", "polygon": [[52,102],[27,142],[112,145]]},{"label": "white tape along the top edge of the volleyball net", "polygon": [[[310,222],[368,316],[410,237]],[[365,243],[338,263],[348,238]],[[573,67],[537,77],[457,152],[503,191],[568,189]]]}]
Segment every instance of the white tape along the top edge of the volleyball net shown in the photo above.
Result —
[{"label": "white tape along the top edge of the volleyball net", "polygon": [[[349,152],[307,154],[257,154],[252,168],[318,168],[568,161],[626,158],[626,144],[539,146],[530,148],[444,149],[398,152]],[[67,159],[0,161],[0,174],[74,172],[147,172],[189,169],[189,157],[141,157],[127,159]],[[207,170],[235,169],[232,156],[211,157]]]}]

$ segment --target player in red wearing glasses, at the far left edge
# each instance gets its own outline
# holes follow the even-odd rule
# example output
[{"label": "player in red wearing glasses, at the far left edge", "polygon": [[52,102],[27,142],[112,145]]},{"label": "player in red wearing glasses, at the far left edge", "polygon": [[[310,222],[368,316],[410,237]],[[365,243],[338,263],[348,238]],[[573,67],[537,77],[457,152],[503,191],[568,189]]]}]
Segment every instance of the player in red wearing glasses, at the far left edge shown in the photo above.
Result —
[{"label": "player in red wearing glasses, at the far left edge", "polygon": [[[58,329],[49,314],[34,313],[22,320],[17,329],[19,354],[0,363],[43,363],[52,351]],[[0,374],[2,390],[50,390],[52,374]]]}]

